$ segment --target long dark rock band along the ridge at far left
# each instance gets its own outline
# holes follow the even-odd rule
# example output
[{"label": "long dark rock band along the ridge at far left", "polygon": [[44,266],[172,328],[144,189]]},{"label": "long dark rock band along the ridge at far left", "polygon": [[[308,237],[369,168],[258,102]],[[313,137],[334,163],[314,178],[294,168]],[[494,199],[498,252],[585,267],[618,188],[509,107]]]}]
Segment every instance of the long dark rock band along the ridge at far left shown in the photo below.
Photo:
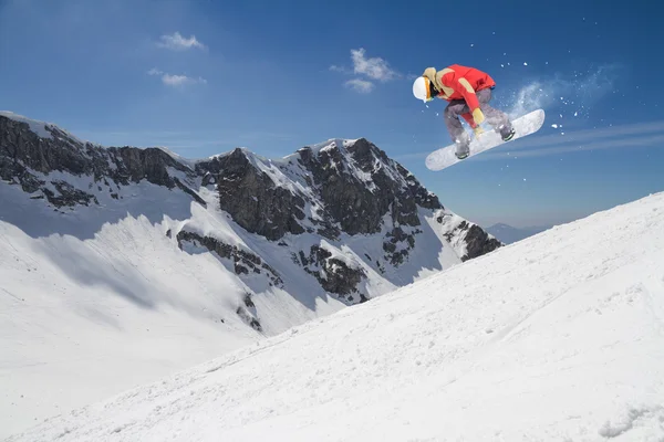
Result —
[{"label": "long dark rock band along the ridge at far left", "polygon": [[[28,123],[0,115],[0,178],[15,182],[28,193],[41,190],[55,207],[98,204],[90,188],[76,188],[52,172],[91,177],[101,186],[117,188],[145,179],[168,189],[184,190],[197,202],[203,199],[169,170],[195,177],[193,170],[159,148],[102,147],[81,141],[55,126],[45,126],[49,137],[39,136]],[[92,187],[93,185],[90,185]]]}]

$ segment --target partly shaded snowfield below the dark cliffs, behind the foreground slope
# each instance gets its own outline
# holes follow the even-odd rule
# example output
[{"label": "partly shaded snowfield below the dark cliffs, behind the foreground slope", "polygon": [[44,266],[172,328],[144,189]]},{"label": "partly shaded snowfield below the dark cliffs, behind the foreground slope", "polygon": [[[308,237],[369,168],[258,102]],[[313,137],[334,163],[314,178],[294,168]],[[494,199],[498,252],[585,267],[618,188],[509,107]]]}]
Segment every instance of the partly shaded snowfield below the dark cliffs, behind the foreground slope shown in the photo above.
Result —
[{"label": "partly shaded snowfield below the dark cliffs, behind the foreground slope", "polygon": [[[308,281],[288,264],[283,290],[180,250],[166,232],[189,224],[247,250],[261,243],[186,194],[149,183],[125,192],[63,213],[0,183],[0,436],[345,306],[310,283],[299,291]],[[274,261],[290,263],[279,249]]]}]

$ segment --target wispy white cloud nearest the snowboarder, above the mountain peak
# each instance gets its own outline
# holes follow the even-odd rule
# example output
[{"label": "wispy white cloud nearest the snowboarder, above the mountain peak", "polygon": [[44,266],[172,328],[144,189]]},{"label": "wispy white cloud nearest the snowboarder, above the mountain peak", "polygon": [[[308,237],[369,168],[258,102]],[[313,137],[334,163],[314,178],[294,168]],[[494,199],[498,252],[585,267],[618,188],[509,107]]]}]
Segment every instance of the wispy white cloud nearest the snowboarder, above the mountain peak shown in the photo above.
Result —
[{"label": "wispy white cloud nearest the snowboarder, above the mountain peak", "polygon": [[[392,69],[386,60],[378,56],[366,57],[366,50],[364,48],[351,50],[351,61],[353,67],[349,69],[333,64],[330,66],[330,71],[340,72],[345,75],[360,75],[345,82],[345,86],[351,87],[355,92],[361,94],[367,94],[374,90],[374,81],[385,83],[392,80],[401,78],[403,75]],[[365,78],[362,78],[365,77]]]}]

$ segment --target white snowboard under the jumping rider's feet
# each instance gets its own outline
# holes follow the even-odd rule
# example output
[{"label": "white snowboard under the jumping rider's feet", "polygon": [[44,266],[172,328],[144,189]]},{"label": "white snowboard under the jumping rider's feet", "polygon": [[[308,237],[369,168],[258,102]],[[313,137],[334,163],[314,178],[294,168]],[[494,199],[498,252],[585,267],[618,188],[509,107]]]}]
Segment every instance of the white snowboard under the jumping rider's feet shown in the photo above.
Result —
[{"label": "white snowboard under the jumping rider's feet", "polygon": [[429,170],[443,170],[449,166],[454,166],[457,162],[467,160],[470,157],[481,154],[483,151],[492,149],[494,147],[498,147],[506,143],[511,143],[515,139],[535,134],[544,124],[544,110],[532,110],[529,114],[522,115],[519,118],[513,119],[511,123],[512,127],[516,130],[516,134],[513,138],[509,141],[504,141],[502,138],[500,138],[500,134],[496,130],[487,130],[479,137],[473,138],[473,140],[470,141],[470,155],[468,155],[466,158],[458,159],[456,155],[454,155],[456,151],[456,145],[453,143],[449,146],[442,147],[430,152],[426,157],[426,167]]}]

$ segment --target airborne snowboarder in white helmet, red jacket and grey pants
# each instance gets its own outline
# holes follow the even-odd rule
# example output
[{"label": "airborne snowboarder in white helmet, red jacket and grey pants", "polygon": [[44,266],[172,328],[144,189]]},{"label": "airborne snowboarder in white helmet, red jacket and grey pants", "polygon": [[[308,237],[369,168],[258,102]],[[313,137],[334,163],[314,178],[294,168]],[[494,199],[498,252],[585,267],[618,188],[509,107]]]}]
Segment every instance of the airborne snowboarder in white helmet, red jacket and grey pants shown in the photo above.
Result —
[{"label": "airborne snowboarder in white helmet, red jacket and grey pants", "polygon": [[496,82],[489,74],[475,67],[453,64],[437,72],[435,67],[427,67],[413,83],[413,95],[424,103],[434,97],[449,102],[444,112],[445,125],[457,146],[457,158],[464,159],[470,154],[470,137],[464,130],[459,116],[470,125],[476,137],[483,133],[480,125],[485,116],[504,141],[515,136],[509,116],[488,105],[495,87]]}]

